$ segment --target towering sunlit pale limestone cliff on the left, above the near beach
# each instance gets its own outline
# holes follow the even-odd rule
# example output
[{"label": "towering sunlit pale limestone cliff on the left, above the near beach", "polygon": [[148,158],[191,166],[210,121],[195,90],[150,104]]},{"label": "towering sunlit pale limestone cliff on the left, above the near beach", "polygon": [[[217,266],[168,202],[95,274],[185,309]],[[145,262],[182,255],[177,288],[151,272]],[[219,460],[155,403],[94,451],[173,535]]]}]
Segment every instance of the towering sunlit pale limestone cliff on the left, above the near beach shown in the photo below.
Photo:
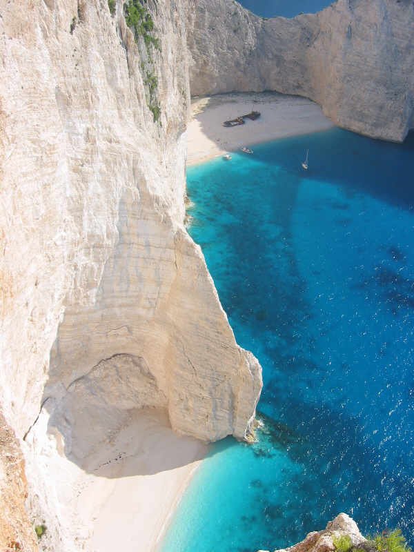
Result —
[{"label": "towering sunlit pale limestone cliff on the left, above the near beach", "polygon": [[160,48],[121,3],[0,0],[0,408],[57,527],[46,450],[144,406],[244,438],[262,385],[183,224],[188,7],[148,7]]}]

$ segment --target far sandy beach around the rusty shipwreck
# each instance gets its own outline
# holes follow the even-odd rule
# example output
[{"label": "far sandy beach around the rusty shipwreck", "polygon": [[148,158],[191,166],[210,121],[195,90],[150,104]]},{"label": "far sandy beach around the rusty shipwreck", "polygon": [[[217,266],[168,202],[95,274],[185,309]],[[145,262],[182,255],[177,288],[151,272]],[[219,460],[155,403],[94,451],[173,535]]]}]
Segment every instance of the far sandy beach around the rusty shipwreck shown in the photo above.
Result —
[{"label": "far sandy beach around the rusty shipwreck", "polygon": [[[241,126],[223,126],[224,121],[246,115],[252,110],[262,114],[256,121],[246,119],[246,124]],[[188,165],[207,161],[242,146],[251,147],[260,142],[333,126],[313,101],[276,92],[196,98],[192,102],[192,115],[187,130]]]}]

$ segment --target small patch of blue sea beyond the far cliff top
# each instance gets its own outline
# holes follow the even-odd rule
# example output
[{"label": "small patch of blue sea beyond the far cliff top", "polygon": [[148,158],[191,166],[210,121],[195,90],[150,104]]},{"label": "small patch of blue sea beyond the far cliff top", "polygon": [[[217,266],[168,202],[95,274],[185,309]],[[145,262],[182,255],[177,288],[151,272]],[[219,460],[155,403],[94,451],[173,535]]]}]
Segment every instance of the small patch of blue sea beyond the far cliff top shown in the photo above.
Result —
[{"label": "small patch of blue sea beyond the far cliff top", "polygon": [[295,17],[299,13],[316,13],[333,0],[240,0],[244,8],[262,17]]}]

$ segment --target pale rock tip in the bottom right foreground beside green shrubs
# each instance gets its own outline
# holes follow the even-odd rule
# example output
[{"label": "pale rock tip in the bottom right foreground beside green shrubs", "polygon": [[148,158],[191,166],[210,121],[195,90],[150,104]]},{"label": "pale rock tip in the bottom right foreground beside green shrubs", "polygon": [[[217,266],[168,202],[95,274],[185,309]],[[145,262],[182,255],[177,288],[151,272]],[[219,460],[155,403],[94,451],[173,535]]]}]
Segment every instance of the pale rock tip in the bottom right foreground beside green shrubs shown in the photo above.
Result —
[{"label": "pale rock tip in the bottom right foreground beside green shrubs", "polygon": [[302,542],[275,552],[334,552],[333,540],[345,535],[351,539],[351,546],[364,550],[366,539],[359,533],[357,524],[346,513],[340,513],[335,520],[328,523],[324,531],[313,531]]}]

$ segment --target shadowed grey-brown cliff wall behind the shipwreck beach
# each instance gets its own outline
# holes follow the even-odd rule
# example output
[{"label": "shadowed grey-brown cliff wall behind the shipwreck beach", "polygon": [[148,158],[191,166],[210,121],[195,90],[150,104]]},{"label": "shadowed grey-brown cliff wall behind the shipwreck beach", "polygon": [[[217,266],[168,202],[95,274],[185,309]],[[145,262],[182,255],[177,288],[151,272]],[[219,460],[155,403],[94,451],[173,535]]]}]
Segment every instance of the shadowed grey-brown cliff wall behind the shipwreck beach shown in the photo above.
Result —
[{"label": "shadowed grey-brown cliff wall behind the shipwreck beach", "polygon": [[265,20],[232,0],[197,0],[188,49],[193,95],[276,90],[309,97],[344,128],[402,141],[414,126],[411,0],[337,0]]}]

